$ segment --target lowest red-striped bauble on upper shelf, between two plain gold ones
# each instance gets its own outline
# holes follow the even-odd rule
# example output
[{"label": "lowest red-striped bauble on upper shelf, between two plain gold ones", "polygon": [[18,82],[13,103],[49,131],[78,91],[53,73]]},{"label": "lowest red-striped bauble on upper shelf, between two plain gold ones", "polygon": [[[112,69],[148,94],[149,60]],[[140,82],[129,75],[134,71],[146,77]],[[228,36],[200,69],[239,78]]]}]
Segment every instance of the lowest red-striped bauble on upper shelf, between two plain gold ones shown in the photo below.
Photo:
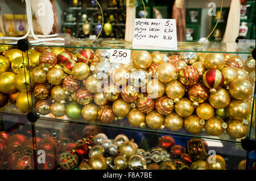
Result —
[{"label": "lowest red-striped bauble on upper shelf, between two plain gold ones", "polygon": [[112,106],[101,106],[100,110],[98,110],[98,119],[102,123],[111,123],[115,119],[115,114],[112,111]]}]

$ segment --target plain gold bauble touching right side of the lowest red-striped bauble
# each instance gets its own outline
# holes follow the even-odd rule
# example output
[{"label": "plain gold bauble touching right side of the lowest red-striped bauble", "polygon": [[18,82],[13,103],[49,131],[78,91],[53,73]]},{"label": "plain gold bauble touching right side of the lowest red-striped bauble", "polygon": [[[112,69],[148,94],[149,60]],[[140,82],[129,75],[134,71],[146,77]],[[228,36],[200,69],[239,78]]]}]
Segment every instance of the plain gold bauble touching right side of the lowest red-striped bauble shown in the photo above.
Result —
[{"label": "plain gold bauble touching right side of the lowest red-striped bauble", "polygon": [[126,117],[130,109],[130,104],[125,102],[123,99],[117,99],[112,104],[112,110],[118,118]]}]

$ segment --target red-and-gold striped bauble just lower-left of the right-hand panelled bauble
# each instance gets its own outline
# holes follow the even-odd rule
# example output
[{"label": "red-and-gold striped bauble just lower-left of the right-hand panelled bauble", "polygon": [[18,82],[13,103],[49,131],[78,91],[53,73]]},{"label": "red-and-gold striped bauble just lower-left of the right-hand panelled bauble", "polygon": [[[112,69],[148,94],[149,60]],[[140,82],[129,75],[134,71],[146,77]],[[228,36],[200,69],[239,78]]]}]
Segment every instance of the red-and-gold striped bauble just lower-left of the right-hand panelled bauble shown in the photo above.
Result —
[{"label": "red-and-gold striped bauble just lower-left of the right-hand panelled bauble", "polygon": [[197,83],[188,89],[188,98],[193,102],[193,106],[199,106],[199,103],[205,102],[208,99],[209,93],[208,89]]}]

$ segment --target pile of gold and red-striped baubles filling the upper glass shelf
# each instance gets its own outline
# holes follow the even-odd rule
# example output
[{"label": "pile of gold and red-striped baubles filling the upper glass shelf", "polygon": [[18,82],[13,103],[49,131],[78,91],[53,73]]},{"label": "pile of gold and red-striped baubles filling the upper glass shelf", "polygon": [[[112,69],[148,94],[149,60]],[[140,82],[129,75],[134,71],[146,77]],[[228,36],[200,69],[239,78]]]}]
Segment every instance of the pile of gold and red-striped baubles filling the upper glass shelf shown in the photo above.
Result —
[{"label": "pile of gold and red-striped baubles filling the upper glass shelf", "polygon": [[40,115],[105,124],[127,117],[133,127],[245,136],[255,60],[190,51],[132,50],[125,65],[110,62],[109,49],[10,49],[0,57],[1,107],[9,98]]}]

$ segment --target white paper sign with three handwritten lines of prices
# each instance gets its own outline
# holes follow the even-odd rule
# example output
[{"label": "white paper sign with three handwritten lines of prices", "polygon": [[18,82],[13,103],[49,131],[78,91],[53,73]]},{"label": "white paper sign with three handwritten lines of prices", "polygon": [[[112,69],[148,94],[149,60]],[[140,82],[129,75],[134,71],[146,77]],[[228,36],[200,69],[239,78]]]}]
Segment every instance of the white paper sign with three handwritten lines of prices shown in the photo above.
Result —
[{"label": "white paper sign with three handwritten lines of prices", "polygon": [[177,47],[175,19],[135,19],[134,45]]}]

